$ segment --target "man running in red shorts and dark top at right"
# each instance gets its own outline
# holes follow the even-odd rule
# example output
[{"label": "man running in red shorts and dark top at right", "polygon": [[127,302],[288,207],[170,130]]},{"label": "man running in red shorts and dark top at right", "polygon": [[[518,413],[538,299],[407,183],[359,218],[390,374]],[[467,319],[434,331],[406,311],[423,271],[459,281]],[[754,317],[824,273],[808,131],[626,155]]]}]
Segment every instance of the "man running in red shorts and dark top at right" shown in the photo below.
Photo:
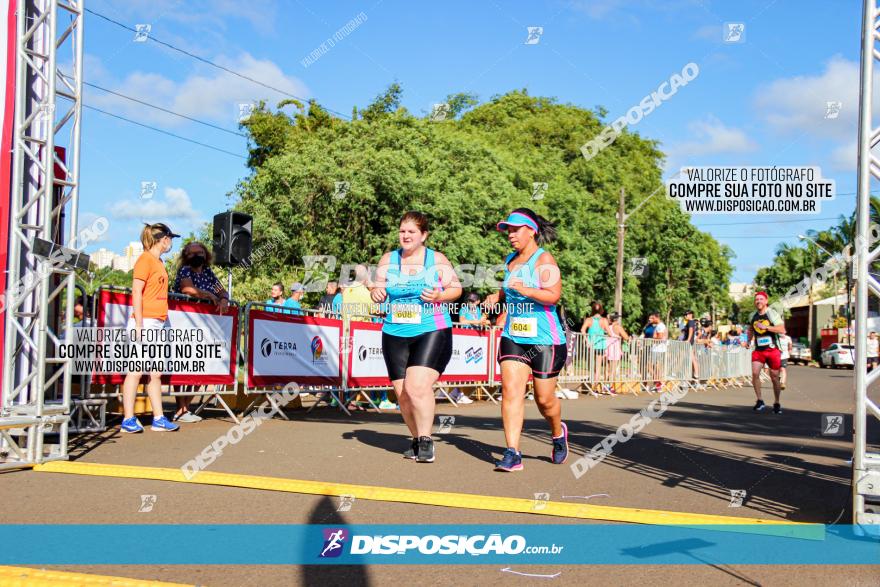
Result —
[{"label": "man running in red shorts and dark top at right", "polygon": [[752,408],[756,412],[764,409],[761,399],[761,369],[766,364],[770,368],[770,380],[773,382],[773,412],[782,413],[779,396],[782,385],[779,381],[779,369],[782,367],[782,353],[779,350],[779,335],[785,334],[785,323],[779,312],[767,306],[767,294],[759,291],[755,294],[755,313],[749,320],[749,342],[755,342],[752,351],[752,387],[758,401]]}]

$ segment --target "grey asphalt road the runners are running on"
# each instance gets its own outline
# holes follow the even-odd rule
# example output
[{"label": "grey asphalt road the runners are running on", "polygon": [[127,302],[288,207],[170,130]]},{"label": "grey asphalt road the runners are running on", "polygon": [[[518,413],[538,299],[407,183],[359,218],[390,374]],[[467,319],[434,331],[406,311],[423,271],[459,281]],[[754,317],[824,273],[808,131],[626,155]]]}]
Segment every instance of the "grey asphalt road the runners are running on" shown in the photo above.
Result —
[{"label": "grey asphalt road the runners are running on", "polygon": [[[554,501],[579,501],[725,516],[847,523],[850,512],[851,441],[823,436],[822,414],[846,414],[852,424],[852,371],[792,367],[784,392],[784,413],[751,410],[751,388],[691,392],[604,462],[576,479],[568,465],[549,462],[550,438],[537,409],[527,409],[522,441],[525,470],[493,471],[503,435],[499,408],[477,402],[438,414],[455,416],[452,429],[436,436],[437,460],[415,464],[400,457],[406,430],[397,414],[331,409],[291,422],[267,422],[229,447],[209,470],[381,485],[482,495],[524,497],[549,493]],[[768,384],[769,385],[769,384]],[[765,400],[772,393],[765,391]],[[647,405],[650,395],[564,400],[576,453],[594,446]],[[179,467],[193,458],[231,421],[212,418],[184,424],[175,434],[121,436],[118,430],[75,437],[72,458],[84,462]],[[869,430],[880,440],[880,429]],[[875,447],[875,450],[877,448]],[[744,490],[740,507],[731,491]],[[152,511],[139,513],[141,495],[155,495]],[[355,501],[337,512],[338,498],[201,486],[136,479],[81,477],[32,471],[0,474],[6,523],[401,523],[547,524],[581,523],[520,513],[413,504]],[[580,496],[580,497],[575,497]],[[182,545],[185,548],[185,545]],[[681,585],[877,585],[876,566],[522,566],[536,579],[502,572],[499,566],[79,566],[54,567],[87,573],[202,585],[634,585],[646,581]]]}]

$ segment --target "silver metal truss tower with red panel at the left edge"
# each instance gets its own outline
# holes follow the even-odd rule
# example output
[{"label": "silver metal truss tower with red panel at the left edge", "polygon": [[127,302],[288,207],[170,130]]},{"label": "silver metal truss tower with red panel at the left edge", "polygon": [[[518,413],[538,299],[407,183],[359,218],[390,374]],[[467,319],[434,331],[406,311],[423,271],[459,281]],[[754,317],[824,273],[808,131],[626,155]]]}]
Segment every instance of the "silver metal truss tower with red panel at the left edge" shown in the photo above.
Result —
[{"label": "silver metal truss tower with red panel at the left edge", "polygon": [[[4,469],[67,458],[71,375],[57,348],[73,321],[74,273],[36,255],[34,241],[76,248],[83,1],[0,0],[0,10]],[[54,444],[44,440],[49,433]]]}]

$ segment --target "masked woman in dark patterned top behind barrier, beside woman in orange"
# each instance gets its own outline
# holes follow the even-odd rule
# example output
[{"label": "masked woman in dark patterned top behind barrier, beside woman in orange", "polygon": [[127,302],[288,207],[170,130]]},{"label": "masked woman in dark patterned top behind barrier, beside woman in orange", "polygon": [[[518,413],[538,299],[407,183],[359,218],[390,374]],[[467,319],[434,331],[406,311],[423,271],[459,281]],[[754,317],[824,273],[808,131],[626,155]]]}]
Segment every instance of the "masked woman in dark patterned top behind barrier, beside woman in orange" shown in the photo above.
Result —
[{"label": "masked woman in dark patterned top behind barrier, beside woman in orange", "polygon": [[[177,258],[177,275],[174,277],[172,291],[194,298],[208,300],[220,312],[225,312],[229,307],[229,294],[223,288],[220,280],[211,269],[213,257],[208,247],[198,241],[193,241],[180,250]],[[204,386],[202,386],[204,389]],[[178,391],[180,388],[178,388]],[[192,396],[178,396],[177,411],[174,413],[175,422],[198,422],[201,420],[189,411]]]}]

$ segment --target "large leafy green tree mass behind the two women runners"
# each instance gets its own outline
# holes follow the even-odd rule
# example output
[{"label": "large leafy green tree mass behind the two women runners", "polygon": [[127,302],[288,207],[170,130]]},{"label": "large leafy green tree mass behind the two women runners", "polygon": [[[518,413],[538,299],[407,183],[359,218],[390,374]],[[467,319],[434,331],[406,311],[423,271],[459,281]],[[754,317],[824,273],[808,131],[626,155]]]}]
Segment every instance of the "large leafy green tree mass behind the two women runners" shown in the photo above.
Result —
[{"label": "large leafy green tree mass behind the two women runners", "polygon": [[[656,141],[625,131],[587,161],[580,146],[606,124],[595,112],[525,90],[474,108],[474,96],[452,94],[456,117],[441,123],[410,114],[401,94],[392,84],[352,121],[324,117],[316,104],[295,116],[261,107],[248,119],[252,173],[237,186],[235,207],[254,217],[255,248],[282,243],[244,278],[259,283],[261,298],[276,277],[301,276],[305,255],[377,262],[396,246],[409,209],[429,215],[429,245],[454,264],[497,264],[508,244],[495,224],[525,206],[557,225],[558,241],[547,248],[577,319],[592,299],[613,300],[623,187],[634,204],[661,190],[628,222],[626,257],[646,257],[650,269],[643,279],[625,276],[626,324],[636,326],[649,309],[702,312],[729,301],[732,252],[663,196]],[[342,197],[340,182],[348,186]],[[532,198],[535,182],[548,184],[543,199]]]}]

